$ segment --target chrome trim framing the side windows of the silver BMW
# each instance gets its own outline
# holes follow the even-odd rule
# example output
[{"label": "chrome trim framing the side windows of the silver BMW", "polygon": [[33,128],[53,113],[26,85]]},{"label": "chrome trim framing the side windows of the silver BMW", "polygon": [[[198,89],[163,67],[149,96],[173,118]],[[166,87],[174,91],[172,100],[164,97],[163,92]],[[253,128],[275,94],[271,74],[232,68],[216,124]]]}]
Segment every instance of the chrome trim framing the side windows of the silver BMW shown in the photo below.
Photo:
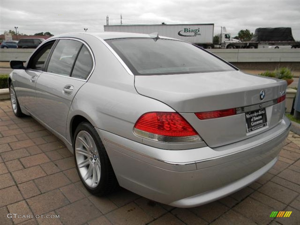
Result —
[{"label": "chrome trim framing the side windows of the silver BMW", "polygon": [[[91,72],[88,74],[87,78],[86,79],[80,79],[80,78],[76,78],[76,77],[72,77],[71,74],[68,75],[68,76],[64,76],[64,75],[61,75],[61,74],[57,74],[57,73],[50,73],[50,72],[47,72],[47,71],[43,71],[43,70],[34,70],[34,69],[26,69],[26,70],[32,70],[32,71],[36,71],[36,72],[41,72],[41,73],[47,73],[47,74],[51,74],[51,75],[56,75],[56,76],[62,76],[62,77],[69,77],[69,78],[72,78],[72,79],[76,79],[76,80],[83,80],[85,82],[88,81],[88,79],[90,78],[91,74],[94,72],[95,70],[95,56],[93,54],[93,51],[91,50],[90,46],[88,46],[88,44],[85,42],[85,41],[82,41],[81,39],[79,38],[67,38],[67,37],[62,37],[62,38],[53,38],[53,39],[50,39],[50,40],[46,40],[44,41],[42,44],[40,44],[38,46],[38,48],[32,52],[32,54],[29,56],[29,59],[32,57],[32,55],[38,51],[38,49],[41,47],[41,46],[44,46],[44,44],[46,44],[47,42],[49,41],[53,41],[53,40],[73,40],[73,41],[79,41],[81,42],[82,44],[84,44],[86,46],[86,48],[88,49],[88,51],[90,52],[91,54],[91,57],[92,57],[92,61],[93,61],[93,67],[91,69]],[[52,55],[51,55],[52,56]],[[51,57],[50,57],[51,58]],[[28,62],[29,60],[27,60]],[[26,66],[27,66],[27,62],[26,62]]]}]

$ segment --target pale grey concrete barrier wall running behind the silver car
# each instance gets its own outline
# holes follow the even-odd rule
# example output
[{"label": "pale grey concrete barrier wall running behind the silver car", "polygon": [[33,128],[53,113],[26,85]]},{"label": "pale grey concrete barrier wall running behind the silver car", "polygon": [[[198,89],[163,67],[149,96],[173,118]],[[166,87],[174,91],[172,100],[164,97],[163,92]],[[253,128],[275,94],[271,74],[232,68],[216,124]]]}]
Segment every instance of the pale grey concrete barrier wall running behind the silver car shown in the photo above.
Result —
[{"label": "pale grey concrete barrier wall running behind the silver car", "polygon": [[[34,49],[0,49],[0,61],[26,61]],[[300,62],[300,49],[209,49],[229,62]]]}]

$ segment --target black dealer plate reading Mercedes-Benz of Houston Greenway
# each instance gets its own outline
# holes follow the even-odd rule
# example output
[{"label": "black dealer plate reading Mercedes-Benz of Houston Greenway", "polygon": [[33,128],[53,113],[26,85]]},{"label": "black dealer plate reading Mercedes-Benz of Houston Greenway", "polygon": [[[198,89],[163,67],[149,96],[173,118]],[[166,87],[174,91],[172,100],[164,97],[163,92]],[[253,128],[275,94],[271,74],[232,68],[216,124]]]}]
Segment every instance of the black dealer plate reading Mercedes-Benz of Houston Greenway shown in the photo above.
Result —
[{"label": "black dealer plate reading Mercedes-Benz of Houston Greenway", "polygon": [[267,125],[265,108],[245,113],[247,132],[255,131]]}]

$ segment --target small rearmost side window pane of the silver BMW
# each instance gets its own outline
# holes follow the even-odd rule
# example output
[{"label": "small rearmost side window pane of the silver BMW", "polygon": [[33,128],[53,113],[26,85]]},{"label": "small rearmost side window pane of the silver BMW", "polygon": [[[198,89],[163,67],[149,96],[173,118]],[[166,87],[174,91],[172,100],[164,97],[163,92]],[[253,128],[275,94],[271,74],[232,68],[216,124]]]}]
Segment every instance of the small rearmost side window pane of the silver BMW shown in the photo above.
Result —
[{"label": "small rearmost side window pane of the silver BMW", "polygon": [[87,47],[83,45],[76,59],[71,76],[80,79],[86,79],[92,68],[93,59]]}]

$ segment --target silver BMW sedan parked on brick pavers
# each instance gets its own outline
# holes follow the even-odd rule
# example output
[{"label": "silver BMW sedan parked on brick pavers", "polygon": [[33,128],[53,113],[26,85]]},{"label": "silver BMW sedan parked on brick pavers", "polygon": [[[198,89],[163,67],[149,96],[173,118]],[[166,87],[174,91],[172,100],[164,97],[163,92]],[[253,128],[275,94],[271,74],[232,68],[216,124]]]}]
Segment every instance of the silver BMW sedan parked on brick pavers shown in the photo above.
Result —
[{"label": "silver BMW sedan parked on brick pavers", "polygon": [[74,153],[93,194],[193,207],[266,173],[289,132],[286,82],[159,35],[71,33],[11,61],[13,112]]}]

